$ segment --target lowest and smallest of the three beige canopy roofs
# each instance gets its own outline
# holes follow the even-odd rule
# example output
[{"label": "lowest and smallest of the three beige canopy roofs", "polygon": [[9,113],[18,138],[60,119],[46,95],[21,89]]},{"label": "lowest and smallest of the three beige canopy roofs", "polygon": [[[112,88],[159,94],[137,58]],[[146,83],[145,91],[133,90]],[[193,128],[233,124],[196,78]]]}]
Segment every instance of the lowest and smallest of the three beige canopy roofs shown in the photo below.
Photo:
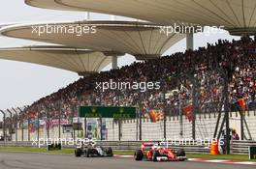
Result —
[{"label": "lowest and smallest of the three beige canopy roofs", "polygon": [[95,73],[111,64],[116,53],[95,52],[65,46],[26,46],[15,48],[0,48],[0,59],[27,62],[71,70],[80,75]]}]

